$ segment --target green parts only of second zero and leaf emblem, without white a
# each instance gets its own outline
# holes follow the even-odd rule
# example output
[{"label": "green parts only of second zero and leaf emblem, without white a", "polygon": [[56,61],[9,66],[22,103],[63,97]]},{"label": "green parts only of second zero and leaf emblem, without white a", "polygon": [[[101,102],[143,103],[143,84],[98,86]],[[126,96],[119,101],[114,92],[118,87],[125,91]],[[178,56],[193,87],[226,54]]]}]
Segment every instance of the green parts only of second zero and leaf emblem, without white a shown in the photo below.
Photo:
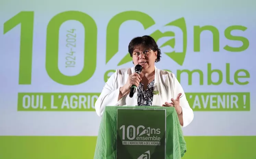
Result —
[{"label": "green parts only of second zero and leaf emblem, without white a", "polygon": [[[149,15],[138,12],[138,11],[127,11],[122,12],[120,14],[115,15],[108,24],[107,27],[107,48],[106,48],[106,64],[108,61],[118,52],[118,46],[119,46],[119,28],[121,24],[123,24],[127,20],[136,20],[139,21],[144,29],[147,29],[155,24],[154,19],[152,19]],[[186,23],[184,18],[179,18],[177,20],[174,20],[165,26],[175,26],[179,27],[183,32],[183,51],[182,52],[170,52],[165,53],[168,55],[171,59],[173,59],[178,64],[182,65],[185,59],[186,55],[186,49],[187,49],[187,30],[186,30]],[[172,39],[165,42],[163,45],[160,46],[170,46],[174,48],[175,46],[175,33],[172,31],[167,32],[161,32],[159,30],[156,30],[152,34],[150,34],[151,37],[153,37],[156,42],[163,37],[172,37]],[[118,66],[132,61],[131,56],[129,53],[124,56],[124,58],[118,63]]]}]

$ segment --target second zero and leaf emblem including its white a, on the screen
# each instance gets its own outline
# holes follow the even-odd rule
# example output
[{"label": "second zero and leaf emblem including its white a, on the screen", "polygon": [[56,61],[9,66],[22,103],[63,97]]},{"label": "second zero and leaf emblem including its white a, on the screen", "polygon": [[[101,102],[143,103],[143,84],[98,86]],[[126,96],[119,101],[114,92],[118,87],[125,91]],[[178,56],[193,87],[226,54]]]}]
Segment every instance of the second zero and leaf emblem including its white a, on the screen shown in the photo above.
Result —
[{"label": "second zero and leaf emblem including its white a, on the screen", "polygon": [[[119,51],[119,28],[127,20],[138,21],[144,26],[145,30],[155,25],[152,17],[139,11],[126,11],[112,17],[107,27],[106,64]],[[161,31],[162,29],[165,31]],[[187,28],[183,17],[167,23],[151,33],[150,36],[160,45],[160,49],[164,49],[161,50],[162,53],[169,56],[179,65],[183,64],[187,50]],[[162,38],[165,41],[162,42]],[[130,61],[132,61],[132,58],[127,53],[118,63],[118,66]]]}]

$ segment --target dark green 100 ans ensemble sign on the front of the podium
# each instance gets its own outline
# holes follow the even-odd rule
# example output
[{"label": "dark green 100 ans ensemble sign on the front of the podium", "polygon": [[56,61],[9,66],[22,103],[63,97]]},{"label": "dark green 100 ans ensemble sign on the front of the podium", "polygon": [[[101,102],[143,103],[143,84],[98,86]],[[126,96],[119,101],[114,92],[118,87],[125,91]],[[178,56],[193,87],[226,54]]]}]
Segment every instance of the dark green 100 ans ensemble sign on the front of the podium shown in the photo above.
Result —
[{"label": "dark green 100 ans ensemble sign on the front of the podium", "polygon": [[165,159],[166,110],[117,109],[117,159]]}]

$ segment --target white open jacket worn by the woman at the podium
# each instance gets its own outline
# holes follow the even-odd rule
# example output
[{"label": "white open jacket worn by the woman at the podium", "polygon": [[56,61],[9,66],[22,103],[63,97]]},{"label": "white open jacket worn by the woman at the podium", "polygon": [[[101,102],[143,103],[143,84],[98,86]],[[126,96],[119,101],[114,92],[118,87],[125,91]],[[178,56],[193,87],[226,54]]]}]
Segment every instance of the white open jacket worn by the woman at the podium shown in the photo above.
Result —
[{"label": "white open jacket worn by the woman at the podium", "polygon": [[[106,106],[135,106],[137,103],[137,89],[135,90],[134,96],[129,97],[129,94],[125,95],[118,101],[120,87],[124,86],[129,75],[134,73],[134,67],[117,69],[113,73],[95,103],[95,110],[98,116],[102,116]],[[171,98],[176,99],[179,93],[182,93],[180,98],[180,106],[182,107],[183,113],[183,126],[186,127],[194,118],[193,110],[187,102],[183,88],[175,75],[171,72],[157,69],[155,67],[155,84],[154,91],[159,93],[153,95],[152,106],[162,106],[165,102],[171,103]]]}]

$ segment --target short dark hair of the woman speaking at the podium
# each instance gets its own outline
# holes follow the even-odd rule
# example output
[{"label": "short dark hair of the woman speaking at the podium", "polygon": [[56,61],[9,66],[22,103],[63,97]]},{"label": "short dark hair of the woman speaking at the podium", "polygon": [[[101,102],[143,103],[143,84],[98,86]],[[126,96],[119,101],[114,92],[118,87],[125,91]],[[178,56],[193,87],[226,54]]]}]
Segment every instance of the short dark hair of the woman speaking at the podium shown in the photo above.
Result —
[{"label": "short dark hair of the woman speaking at the podium", "polygon": [[160,61],[161,50],[158,48],[156,41],[152,37],[144,35],[143,37],[133,38],[128,46],[128,51],[131,57],[133,55],[134,49],[137,47],[152,49],[154,52],[157,51],[156,62]]}]

